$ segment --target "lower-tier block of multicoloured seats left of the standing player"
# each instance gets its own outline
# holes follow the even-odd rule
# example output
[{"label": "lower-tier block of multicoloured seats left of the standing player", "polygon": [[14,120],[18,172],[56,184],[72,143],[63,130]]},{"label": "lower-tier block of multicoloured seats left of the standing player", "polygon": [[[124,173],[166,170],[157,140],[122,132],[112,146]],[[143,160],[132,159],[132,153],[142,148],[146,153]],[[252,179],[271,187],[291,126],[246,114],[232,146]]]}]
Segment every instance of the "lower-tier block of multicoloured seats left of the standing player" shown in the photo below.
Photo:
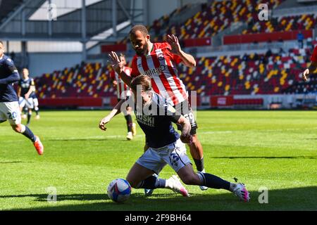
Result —
[{"label": "lower-tier block of multicoloured seats left of the standing player", "polygon": [[82,63],[44,74],[35,79],[39,98],[113,96],[111,70],[101,63]]}]

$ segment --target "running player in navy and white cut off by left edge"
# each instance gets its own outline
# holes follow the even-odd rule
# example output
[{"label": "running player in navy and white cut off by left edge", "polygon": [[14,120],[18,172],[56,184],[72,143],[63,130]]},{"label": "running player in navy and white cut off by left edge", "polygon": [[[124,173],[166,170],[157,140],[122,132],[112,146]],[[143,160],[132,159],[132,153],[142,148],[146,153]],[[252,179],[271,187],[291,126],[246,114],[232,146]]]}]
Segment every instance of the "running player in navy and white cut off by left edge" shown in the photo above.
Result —
[{"label": "running player in navy and white cut off by left edge", "polygon": [[44,147],[32,131],[21,124],[21,114],[18,96],[13,89],[13,83],[18,82],[20,75],[11,58],[4,55],[4,43],[0,41],[0,123],[8,120],[12,129],[30,139],[39,155],[44,152]]}]

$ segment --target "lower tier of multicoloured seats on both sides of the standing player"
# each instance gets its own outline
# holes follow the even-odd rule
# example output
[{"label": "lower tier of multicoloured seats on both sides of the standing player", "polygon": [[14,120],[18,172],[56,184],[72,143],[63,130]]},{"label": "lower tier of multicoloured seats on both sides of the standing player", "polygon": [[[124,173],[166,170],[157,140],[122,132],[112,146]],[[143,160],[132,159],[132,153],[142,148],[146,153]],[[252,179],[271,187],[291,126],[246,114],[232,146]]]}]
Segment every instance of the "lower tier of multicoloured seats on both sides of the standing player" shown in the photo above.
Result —
[{"label": "lower tier of multicoloured seats on both sides of the standing player", "polygon": [[[316,78],[302,84],[299,77],[309,65],[310,54],[311,49],[290,49],[287,53],[202,57],[197,58],[196,68],[180,65],[178,72],[187,89],[199,96],[301,93],[316,90]],[[115,96],[111,70],[101,63],[82,63],[42,75],[35,79],[39,98]]]}]

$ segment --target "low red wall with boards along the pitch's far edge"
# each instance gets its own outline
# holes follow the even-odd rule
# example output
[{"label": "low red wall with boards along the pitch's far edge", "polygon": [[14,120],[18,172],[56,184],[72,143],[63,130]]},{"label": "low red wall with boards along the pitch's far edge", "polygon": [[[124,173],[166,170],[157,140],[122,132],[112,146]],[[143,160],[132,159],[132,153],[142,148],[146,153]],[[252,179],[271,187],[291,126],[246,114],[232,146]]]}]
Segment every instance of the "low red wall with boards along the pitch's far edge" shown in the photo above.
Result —
[{"label": "low red wall with boards along the pitch's far edge", "polygon": [[[191,99],[189,98],[189,101]],[[40,98],[42,108],[111,109],[116,96],[105,98]],[[263,94],[235,96],[198,96],[193,109],[278,110],[317,109],[317,94]]]}]

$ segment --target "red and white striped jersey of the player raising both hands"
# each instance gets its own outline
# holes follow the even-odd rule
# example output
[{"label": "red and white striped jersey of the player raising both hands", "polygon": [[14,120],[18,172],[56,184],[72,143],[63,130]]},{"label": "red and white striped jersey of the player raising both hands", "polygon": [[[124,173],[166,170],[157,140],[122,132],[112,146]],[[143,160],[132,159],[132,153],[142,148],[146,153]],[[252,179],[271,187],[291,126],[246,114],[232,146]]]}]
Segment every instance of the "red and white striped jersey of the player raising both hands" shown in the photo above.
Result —
[{"label": "red and white striped jersey of the player raising both hands", "polygon": [[152,89],[166,98],[172,105],[177,105],[188,98],[185,85],[178,77],[176,63],[180,63],[180,56],[170,53],[167,42],[154,43],[148,56],[135,55],[132,59],[131,77],[148,75],[151,77]]}]

